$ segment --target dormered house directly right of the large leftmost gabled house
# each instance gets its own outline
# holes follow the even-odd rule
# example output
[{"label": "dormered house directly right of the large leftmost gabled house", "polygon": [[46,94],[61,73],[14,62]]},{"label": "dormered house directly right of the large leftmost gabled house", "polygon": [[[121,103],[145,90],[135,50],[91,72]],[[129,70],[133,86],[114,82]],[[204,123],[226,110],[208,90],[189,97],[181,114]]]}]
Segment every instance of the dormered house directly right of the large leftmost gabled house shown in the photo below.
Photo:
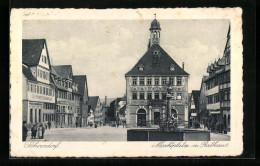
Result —
[{"label": "dormered house directly right of the large leftmost gabled house", "polygon": [[80,126],[81,94],[73,81],[72,66],[52,66],[52,79],[57,88],[57,127]]}]

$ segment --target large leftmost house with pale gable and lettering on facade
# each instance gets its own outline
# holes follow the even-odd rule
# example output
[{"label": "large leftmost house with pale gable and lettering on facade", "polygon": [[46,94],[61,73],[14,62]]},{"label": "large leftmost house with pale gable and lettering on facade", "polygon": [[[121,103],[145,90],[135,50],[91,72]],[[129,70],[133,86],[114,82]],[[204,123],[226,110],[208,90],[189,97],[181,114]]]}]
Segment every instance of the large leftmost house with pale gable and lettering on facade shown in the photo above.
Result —
[{"label": "large leftmost house with pale gable and lettering on facade", "polygon": [[51,64],[45,39],[22,40],[23,121],[55,124],[55,86],[50,79]]}]

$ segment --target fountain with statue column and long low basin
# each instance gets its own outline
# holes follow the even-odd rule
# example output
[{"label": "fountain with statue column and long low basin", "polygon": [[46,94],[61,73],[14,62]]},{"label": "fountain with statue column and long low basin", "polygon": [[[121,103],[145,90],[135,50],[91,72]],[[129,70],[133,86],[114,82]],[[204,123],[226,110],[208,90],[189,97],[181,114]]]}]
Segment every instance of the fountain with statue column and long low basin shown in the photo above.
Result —
[{"label": "fountain with statue column and long low basin", "polygon": [[210,141],[210,133],[208,131],[199,131],[191,129],[181,129],[179,124],[183,120],[177,120],[175,115],[170,114],[170,99],[172,87],[168,83],[167,87],[167,108],[166,116],[160,119],[158,129],[128,129],[127,141]]}]

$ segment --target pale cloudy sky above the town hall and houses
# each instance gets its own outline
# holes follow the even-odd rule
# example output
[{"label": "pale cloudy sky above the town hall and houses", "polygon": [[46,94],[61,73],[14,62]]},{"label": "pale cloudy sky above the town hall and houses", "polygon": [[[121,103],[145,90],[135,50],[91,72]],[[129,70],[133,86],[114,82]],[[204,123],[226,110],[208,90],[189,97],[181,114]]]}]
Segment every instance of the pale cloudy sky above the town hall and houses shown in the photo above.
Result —
[{"label": "pale cloudy sky above the town hall and houses", "polygon": [[[160,20],[160,46],[199,90],[209,63],[223,56],[229,20]],[[125,73],[147,51],[153,20],[25,20],[23,39],[46,39],[52,65],[87,75],[89,96],[122,97]]]}]

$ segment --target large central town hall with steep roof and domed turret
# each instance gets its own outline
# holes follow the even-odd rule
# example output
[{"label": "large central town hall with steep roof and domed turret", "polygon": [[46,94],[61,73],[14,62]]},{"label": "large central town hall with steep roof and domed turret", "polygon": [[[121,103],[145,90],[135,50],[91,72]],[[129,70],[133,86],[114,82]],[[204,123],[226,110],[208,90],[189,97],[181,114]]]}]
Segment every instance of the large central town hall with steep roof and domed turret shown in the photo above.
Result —
[{"label": "large central town hall with steep roof and domed turret", "polygon": [[188,126],[188,79],[184,71],[160,46],[161,27],[154,19],[150,27],[148,51],[125,74],[126,126],[159,125],[167,109],[167,87],[172,87],[170,112],[180,126]]}]

